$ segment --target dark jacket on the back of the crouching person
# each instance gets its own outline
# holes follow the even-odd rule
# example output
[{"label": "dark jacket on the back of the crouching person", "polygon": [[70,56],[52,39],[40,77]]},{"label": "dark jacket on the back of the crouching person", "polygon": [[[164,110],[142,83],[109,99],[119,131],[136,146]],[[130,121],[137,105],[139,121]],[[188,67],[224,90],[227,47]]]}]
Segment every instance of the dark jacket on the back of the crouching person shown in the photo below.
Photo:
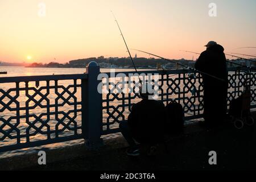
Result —
[{"label": "dark jacket on the back of the crouching person", "polygon": [[142,100],[131,108],[128,125],[133,137],[141,143],[156,142],[163,136],[166,109],[163,102]]}]

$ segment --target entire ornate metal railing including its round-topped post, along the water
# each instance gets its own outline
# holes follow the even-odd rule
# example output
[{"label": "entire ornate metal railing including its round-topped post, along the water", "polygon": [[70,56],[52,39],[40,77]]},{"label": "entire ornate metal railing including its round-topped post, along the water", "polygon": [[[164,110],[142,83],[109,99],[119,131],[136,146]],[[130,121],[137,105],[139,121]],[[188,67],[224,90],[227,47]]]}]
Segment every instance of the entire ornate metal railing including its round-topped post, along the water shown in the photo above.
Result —
[{"label": "entire ornate metal railing including its round-topped post, along the water", "polygon": [[[98,93],[100,68],[89,64],[86,74],[0,78],[0,152],[41,146],[75,139],[85,139],[88,147],[102,144],[101,136],[118,133],[118,123],[125,121],[140,99],[137,93]],[[129,80],[129,74],[112,80],[109,91]],[[189,70],[142,71],[158,76],[159,100],[176,100],[183,105],[186,119],[203,113],[203,86],[199,73]],[[242,82],[251,78],[251,107],[255,108],[256,73],[240,68],[229,69],[228,102],[242,93]],[[119,79],[119,80],[118,80]],[[125,80],[122,80],[125,79]],[[141,77],[141,80],[147,80]],[[138,89],[133,81],[131,90]]]}]

